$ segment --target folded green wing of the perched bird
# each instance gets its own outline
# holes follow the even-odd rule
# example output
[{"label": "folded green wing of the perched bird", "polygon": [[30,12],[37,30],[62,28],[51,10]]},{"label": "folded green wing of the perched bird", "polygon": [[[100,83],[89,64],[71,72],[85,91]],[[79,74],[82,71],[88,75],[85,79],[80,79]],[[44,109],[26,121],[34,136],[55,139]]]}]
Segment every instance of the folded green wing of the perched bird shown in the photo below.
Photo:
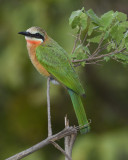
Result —
[{"label": "folded green wing of the perched bird", "polygon": [[55,41],[40,45],[36,49],[36,57],[41,65],[60,83],[78,94],[84,94],[79,81],[65,50]]}]

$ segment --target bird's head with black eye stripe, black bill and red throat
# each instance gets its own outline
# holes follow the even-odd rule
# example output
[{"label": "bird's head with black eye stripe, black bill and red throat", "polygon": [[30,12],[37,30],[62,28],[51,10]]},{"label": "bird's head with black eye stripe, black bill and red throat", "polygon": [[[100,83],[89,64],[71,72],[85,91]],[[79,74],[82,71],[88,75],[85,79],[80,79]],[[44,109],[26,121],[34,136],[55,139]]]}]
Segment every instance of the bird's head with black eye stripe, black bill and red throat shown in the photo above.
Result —
[{"label": "bird's head with black eye stripe, black bill and red throat", "polygon": [[47,37],[47,33],[40,27],[31,27],[19,34],[24,35],[27,43],[31,44],[41,44]]}]

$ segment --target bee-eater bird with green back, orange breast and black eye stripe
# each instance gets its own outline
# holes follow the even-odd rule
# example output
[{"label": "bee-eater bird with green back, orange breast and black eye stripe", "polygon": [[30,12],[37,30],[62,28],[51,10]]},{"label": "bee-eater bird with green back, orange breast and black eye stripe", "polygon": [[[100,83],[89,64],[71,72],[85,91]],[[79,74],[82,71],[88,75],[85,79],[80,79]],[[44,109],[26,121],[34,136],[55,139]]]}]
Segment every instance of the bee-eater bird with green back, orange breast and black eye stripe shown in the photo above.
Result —
[{"label": "bee-eater bird with green back, orange breast and black eye stripe", "polygon": [[[35,68],[67,88],[79,125],[88,124],[80,98],[85,92],[66,51],[40,27],[31,27],[19,34],[25,36],[28,54]],[[88,131],[89,126],[80,129],[81,133]]]}]

